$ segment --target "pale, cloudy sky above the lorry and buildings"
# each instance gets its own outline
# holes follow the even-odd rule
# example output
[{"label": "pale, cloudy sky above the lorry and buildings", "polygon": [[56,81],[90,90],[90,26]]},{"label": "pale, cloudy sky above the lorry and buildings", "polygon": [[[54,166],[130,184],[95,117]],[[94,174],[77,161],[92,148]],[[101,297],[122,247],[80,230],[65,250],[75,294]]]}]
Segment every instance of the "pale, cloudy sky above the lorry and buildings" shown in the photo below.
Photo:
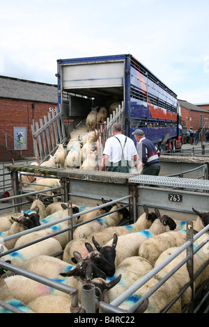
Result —
[{"label": "pale, cloudy sky above the lorry and buildings", "polygon": [[132,54],[209,103],[208,0],[0,0],[0,74],[56,83],[56,60]]}]

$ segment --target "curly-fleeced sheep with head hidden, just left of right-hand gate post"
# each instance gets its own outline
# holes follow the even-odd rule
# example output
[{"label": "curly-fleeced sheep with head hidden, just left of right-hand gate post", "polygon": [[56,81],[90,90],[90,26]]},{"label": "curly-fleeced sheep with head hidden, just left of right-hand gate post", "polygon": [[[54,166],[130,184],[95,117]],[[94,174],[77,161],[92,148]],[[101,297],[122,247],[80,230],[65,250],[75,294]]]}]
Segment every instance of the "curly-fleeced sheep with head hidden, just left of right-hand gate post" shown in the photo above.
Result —
[{"label": "curly-fleeced sheep with head hidden, just left of right-hand gate post", "polygon": [[186,230],[170,231],[155,235],[144,241],[139,248],[139,256],[144,257],[152,266],[167,248],[182,246],[187,241]]}]

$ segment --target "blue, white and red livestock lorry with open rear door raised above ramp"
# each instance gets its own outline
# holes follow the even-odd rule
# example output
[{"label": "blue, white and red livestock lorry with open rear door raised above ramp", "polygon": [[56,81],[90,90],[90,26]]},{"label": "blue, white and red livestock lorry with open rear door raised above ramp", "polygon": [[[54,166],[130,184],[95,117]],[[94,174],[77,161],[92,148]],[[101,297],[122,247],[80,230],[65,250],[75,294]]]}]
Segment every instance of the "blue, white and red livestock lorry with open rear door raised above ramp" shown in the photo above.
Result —
[{"label": "blue, white and red livestock lorry with open rear door raised above ramp", "polygon": [[139,128],[160,150],[180,149],[177,95],[131,54],[59,59],[58,101],[65,118],[85,118],[92,106],[123,103],[123,131]]}]

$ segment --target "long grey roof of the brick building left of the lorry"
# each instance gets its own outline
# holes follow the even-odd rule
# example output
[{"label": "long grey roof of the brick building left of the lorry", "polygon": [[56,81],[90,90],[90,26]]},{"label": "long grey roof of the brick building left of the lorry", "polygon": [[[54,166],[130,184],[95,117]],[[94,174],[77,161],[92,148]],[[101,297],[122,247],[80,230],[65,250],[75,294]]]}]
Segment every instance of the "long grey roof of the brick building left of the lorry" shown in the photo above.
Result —
[{"label": "long grey roof of the brick building left of the lorry", "polygon": [[57,104],[57,86],[0,75],[0,98]]}]

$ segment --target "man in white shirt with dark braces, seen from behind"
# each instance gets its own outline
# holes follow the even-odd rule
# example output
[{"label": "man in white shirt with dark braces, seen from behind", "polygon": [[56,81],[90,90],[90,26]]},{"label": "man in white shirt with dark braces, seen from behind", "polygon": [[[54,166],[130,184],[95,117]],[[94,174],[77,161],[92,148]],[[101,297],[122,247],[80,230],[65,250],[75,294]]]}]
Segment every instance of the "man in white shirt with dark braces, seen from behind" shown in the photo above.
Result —
[{"label": "man in white shirt with dark braces, seen from behind", "polygon": [[104,145],[103,158],[100,170],[107,167],[108,171],[130,173],[132,159],[137,162],[137,150],[134,141],[122,134],[121,124],[116,122],[112,127],[114,136],[107,138]]}]

